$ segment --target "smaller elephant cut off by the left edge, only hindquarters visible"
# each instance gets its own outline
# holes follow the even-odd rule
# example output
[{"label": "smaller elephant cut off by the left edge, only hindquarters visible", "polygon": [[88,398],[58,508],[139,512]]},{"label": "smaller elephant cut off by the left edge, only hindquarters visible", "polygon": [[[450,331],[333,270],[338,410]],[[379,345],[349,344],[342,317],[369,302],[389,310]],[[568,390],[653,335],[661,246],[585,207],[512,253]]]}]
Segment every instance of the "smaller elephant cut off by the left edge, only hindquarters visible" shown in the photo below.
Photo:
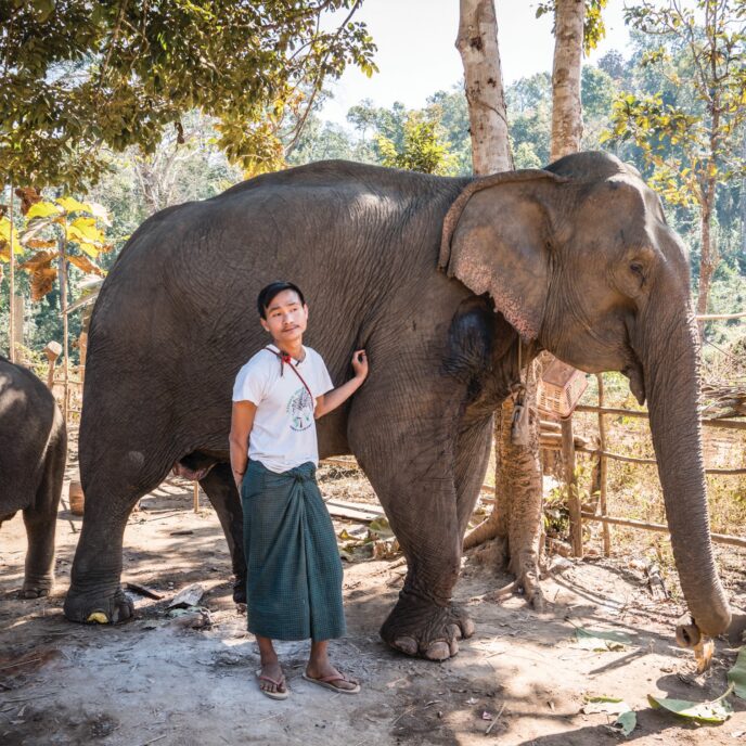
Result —
[{"label": "smaller elephant cut off by the left edge, only hindquarters visible", "polygon": [[54,582],[54,531],[67,460],[67,429],[44,384],[0,356],[0,525],[23,511],[28,537],[23,599]]}]

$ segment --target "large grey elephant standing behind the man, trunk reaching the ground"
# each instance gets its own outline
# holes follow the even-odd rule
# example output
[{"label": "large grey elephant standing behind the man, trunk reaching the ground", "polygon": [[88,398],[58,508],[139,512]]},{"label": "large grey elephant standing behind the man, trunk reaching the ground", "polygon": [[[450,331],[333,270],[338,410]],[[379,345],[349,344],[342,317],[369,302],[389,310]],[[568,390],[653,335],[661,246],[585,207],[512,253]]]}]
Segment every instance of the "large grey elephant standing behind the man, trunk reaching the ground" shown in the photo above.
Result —
[{"label": "large grey elephant standing behind the man, trunk reaching the ground", "polygon": [[640,173],[603,152],[450,178],[347,162],[258,176],[167,208],[130,237],[93,310],[80,427],[86,516],[65,614],[118,621],[123,532],[176,465],[217,509],[241,599],[231,385],[267,339],[260,287],[297,283],[305,340],[334,382],[370,375],[319,421],[321,458],[353,454],[408,563],[381,628],[432,659],[473,633],[452,590],[499,404],[540,350],[621,371],[648,401],[673,552],[698,629],[722,632],[697,414],[686,250]]}]

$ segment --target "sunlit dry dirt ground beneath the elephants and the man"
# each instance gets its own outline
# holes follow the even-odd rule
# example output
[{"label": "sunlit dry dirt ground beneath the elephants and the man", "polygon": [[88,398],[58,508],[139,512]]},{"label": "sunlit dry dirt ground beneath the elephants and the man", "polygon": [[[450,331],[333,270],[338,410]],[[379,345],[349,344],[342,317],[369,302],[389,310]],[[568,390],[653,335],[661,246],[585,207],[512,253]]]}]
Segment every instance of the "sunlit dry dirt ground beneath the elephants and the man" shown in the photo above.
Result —
[{"label": "sunlit dry dirt ground beneath the elephants and the man", "polygon": [[[68,478],[75,475],[73,459]],[[326,475],[322,492],[370,500],[364,480]],[[476,633],[459,655],[434,664],[406,658],[377,630],[401,584],[400,557],[345,563],[349,633],[331,645],[333,659],[362,682],[357,696],[334,694],[301,678],[307,643],[280,643],[291,696],[259,693],[258,652],[245,616],[231,599],[230,562],[215,512],[204,494],[192,510],[189,483],[167,481],[141,502],[125,535],[124,581],[160,591],[133,595],[134,620],[78,626],[62,615],[81,518],[67,510],[67,481],[57,518],[56,587],[49,599],[16,597],[26,539],[21,515],[0,530],[0,744],[102,746],[306,744],[595,745],[622,741],[614,717],[583,715],[586,696],[621,697],[636,711],[627,738],[638,744],[746,743],[746,703],[731,697],[733,717],[697,725],[654,710],[646,695],[703,702],[725,691],[736,648],[719,641],[712,669],[694,676],[692,655],[676,646],[682,608],[655,601],[632,555],[562,563],[543,582],[545,613],[520,597],[490,600],[510,578],[474,555],[464,560],[455,597]],[[342,494],[340,494],[342,492]],[[348,530],[355,523],[335,522]],[[177,533],[178,532],[178,533]],[[730,554],[729,591],[746,591],[743,556]],[[166,605],[193,582],[205,589],[202,629],[171,619]],[[194,617],[188,617],[193,619]],[[201,617],[205,619],[205,617]],[[595,652],[575,628],[617,630],[631,644]]]}]

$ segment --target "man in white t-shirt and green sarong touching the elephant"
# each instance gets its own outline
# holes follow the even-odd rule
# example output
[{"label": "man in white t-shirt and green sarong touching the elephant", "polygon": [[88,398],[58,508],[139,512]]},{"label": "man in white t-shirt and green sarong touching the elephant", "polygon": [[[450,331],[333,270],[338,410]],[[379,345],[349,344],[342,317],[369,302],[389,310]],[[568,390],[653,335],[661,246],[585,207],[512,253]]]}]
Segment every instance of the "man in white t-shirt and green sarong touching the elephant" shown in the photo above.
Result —
[{"label": "man in white t-shirt and green sarong touching the elephant", "polygon": [[242,369],[233,387],[231,468],[244,513],[247,626],[261,656],[261,691],[287,697],[272,640],[311,639],[304,679],[344,694],[360,685],[332,666],[329,640],[345,633],[342,562],[316,483],[314,419],[346,401],[368,375],[364,350],[355,377],[334,388],[321,356],[304,347],[308,306],[300,290],[274,282],[257,299],[272,337]]}]

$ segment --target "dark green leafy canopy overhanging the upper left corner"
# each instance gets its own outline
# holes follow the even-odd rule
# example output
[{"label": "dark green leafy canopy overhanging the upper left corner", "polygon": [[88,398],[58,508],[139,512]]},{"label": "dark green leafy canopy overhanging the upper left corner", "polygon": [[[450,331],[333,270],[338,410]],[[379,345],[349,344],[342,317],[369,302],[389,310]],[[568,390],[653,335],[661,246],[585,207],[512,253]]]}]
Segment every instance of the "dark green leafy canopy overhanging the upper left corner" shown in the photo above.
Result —
[{"label": "dark green leafy canopy overhanging the upper left corner", "polygon": [[232,160],[266,158],[286,106],[300,128],[325,78],[375,70],[361,2],[0,0],[0,173],[79,190],[102,146],[153,153],[195,108]]}]

